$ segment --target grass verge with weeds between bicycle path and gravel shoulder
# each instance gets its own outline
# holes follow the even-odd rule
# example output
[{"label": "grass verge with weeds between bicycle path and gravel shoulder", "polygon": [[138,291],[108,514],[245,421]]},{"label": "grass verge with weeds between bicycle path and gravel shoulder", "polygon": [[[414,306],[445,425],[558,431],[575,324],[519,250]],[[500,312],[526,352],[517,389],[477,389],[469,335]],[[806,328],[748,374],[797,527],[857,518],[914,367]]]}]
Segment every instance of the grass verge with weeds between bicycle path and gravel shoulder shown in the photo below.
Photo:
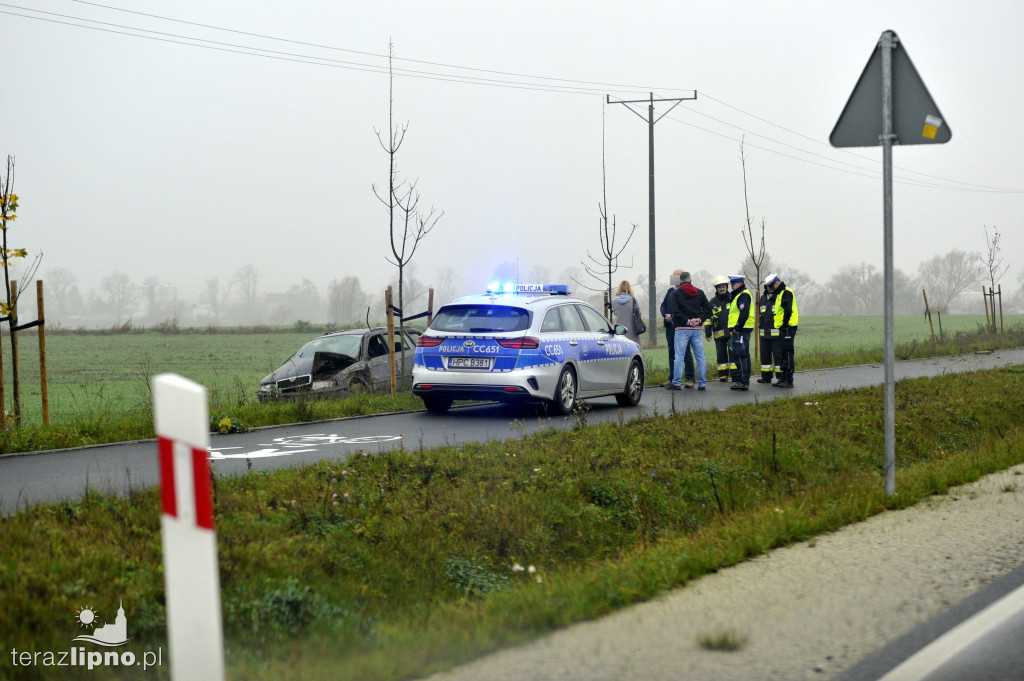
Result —
[{"label": "grass verge with weeds between bicycle path and gravel shoulder", "polygon": [[[881,388],[218,479],[229,677],[426,675],[1024,461],[1021,368],[896,395],[892,498]],[[137,654],[166,649],[159,508],[3,519],[4,644],[65,649],[123,599]]]}]

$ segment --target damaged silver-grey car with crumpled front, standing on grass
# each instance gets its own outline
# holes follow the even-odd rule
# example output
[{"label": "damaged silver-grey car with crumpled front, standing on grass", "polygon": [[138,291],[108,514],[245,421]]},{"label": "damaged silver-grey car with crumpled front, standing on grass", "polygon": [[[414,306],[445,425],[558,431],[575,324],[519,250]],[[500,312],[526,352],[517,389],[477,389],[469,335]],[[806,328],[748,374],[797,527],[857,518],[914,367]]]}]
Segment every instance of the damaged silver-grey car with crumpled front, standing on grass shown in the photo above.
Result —
[{"label": "damaged silver-grey car with crumpled front, standing on grass", "polygon": [[[407,381],[413,375],[416,340],[394,332],[399,385],[401,351],[406,350]],[[344,397],[353,392],[391,387],[387,330],[352,329],[326,334],[303,345],[278,371],[259,382],[260,401],[315,397]]]}]

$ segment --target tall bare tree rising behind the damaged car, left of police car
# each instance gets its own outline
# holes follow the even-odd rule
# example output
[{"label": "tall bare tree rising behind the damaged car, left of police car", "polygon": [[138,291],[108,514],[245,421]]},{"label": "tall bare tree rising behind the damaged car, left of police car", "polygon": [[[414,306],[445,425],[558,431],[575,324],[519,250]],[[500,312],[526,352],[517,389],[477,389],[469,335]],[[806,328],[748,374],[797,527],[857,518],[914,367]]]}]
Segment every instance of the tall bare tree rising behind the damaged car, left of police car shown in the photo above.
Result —
[{"label": "tall bare tree rising behind the damaged car, left of police car", "polygon": [[[392,258],[386,258],[388,262],[398,268],[398,309],[403,309],[404,305],[404,269],[416,254],[416,249],[420,242],[430,233],[437,225],[437,221],[444,215],[433,207],[429,211],[420,210],[420,193],[416,188],[418,180],[404,180],[398,176],[397,156],[402,141],[406,139],[406,131],[409,123],[400,126],[394,124],[394,72],[392,61],[394,59],[394,43],[388,43],[388,134],[387,141],[384,140],[380,130],[375,129],[377,141],[388,157],[388,186],[383,193],[373,185],[374,195],[384,204],[388,215],[388,235],[391,240]],[[404,318],[399,316],[402,331],[406,329]],[[401,361],[398,367],[401,370],[402,385],[406,384],[406,344],[401,344]]]}]

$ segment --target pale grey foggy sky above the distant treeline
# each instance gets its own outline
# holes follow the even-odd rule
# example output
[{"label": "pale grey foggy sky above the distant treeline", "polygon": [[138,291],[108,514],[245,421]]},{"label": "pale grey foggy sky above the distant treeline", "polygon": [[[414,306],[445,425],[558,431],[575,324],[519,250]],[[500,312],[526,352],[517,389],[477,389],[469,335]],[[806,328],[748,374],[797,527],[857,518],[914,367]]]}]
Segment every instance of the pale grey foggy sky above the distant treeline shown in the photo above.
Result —
[{"label": "pale grey foggy sky above the distant treeline", "polygon": [[[371,187],[387,182],[375,130],[388,129],[389,40],[395,69],[422,72],[393,82],[399,169],[444,211],[414,259],[427,283],[453,265],[470,292],[503,262],[561,272],[596,254],[602,117],[608,210],[638,225],[623,278],[646,274],[647,125],[604,95],[693,90],[655,126],[659,280],[738,269],[744,134],[751,215],[776,261],[819,283],[881,267],[881,148],[827,138],[887,29],[953,133],[895,147],[896,266],[981,251],[984,225],[1004,235],[1005,289],[1024,265],[1024,3],[102,4],[178,22],[71,0],[0,7],[0,154],[16,157],[20,197],[9,241],[44,252],[44,281],[73,268],[83,293],[120,270],[198,298],[247,264],[264,292],[309,279],[323,294],[346,274],[383,288],[387,215]],[[68,26],[83,19],[104,31]],[[160,40],[122,35],[140,29]],[[253,48],[276,53],[239,53]]]}]

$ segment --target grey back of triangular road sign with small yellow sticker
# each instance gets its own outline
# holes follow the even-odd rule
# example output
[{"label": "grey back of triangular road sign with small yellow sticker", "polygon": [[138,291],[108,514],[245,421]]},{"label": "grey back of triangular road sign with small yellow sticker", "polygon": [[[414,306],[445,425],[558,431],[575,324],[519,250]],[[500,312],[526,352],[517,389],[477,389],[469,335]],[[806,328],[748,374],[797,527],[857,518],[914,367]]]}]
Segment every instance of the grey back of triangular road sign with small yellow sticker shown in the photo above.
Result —
[{"label": "grey back of triangular road sign with small yellow sticker", "polygon": [[[892,32],[889,32],[892,33]],[[894,144],[941,144],[952,131],[924,81],[913,68],[906,48],[892,33]],[[828,136],[833,146],[880,146],[882,135],[882,48],[876,48],[860,75],[853,94]]]}]

